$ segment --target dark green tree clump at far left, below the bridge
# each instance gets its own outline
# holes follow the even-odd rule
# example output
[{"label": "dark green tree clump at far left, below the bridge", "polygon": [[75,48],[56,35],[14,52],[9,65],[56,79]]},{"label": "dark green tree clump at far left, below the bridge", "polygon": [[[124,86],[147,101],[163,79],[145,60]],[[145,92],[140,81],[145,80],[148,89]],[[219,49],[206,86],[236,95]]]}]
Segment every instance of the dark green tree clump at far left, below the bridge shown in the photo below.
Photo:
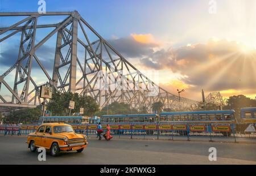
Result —
[{"label": "dark green tree clump at far left, below the bridge", "polygon": [[38,118],[42,115],[40,107],[38,108],[24,108],[19,110],[13,110],[9,115],[4,118],[5,123],[29,123],[32,121],[38,121]]}]

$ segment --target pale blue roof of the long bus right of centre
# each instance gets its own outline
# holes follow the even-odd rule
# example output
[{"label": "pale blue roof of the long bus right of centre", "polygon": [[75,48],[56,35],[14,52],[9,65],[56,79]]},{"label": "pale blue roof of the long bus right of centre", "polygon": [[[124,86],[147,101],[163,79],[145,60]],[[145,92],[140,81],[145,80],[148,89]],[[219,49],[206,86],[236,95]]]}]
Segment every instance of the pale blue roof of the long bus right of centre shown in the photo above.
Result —
[{"label": "pale blue roof of the long bus right of centre", "polygon": [[163,115],[186,115],[186,114],[234,114],[234,110],[205,110],[205,111],[184,111],[184,112],[166,112],[160,113]]}]

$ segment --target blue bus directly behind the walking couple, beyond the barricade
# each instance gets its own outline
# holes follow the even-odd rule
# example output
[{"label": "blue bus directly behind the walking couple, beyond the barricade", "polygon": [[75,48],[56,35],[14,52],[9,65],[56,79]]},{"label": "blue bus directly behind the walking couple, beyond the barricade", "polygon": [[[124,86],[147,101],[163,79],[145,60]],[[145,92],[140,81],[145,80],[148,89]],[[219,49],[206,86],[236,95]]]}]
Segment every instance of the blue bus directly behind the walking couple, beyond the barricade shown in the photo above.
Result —
[{"label": "blue bus directly behind the walking couple, beyond the barricade", "polygon": [[118,114],[101,115],[101,123],[133,123],[133,122],[156,122],[158,114]]}]

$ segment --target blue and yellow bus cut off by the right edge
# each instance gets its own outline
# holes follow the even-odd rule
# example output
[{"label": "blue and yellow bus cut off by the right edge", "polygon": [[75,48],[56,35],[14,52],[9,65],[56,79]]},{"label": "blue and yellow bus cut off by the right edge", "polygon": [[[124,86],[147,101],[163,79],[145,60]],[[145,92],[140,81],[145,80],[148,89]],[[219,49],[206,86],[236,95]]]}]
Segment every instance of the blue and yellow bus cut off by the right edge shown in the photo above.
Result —
[{"label": "blue and yellow bus cut off by the right edge", "polygon": [[256,123],[256,108],[242,108],[241,121],[244,123]]}]

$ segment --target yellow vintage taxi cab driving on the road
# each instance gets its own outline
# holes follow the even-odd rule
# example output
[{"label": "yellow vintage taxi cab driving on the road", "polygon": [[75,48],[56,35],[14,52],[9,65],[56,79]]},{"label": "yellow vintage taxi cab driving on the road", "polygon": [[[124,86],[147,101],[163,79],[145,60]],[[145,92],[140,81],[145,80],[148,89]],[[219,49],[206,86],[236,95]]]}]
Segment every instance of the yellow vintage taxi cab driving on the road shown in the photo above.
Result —
[{"label": "yellow vintage taxi cab driving on the road", "polygon": [[60,151],[82,152],[87,146],[87,136],[76,134],[71,125],[65,123],[44,123],[38,129],[28,134],[26,143],[31,152],[38,147],[51,150],[52,156]]}]

